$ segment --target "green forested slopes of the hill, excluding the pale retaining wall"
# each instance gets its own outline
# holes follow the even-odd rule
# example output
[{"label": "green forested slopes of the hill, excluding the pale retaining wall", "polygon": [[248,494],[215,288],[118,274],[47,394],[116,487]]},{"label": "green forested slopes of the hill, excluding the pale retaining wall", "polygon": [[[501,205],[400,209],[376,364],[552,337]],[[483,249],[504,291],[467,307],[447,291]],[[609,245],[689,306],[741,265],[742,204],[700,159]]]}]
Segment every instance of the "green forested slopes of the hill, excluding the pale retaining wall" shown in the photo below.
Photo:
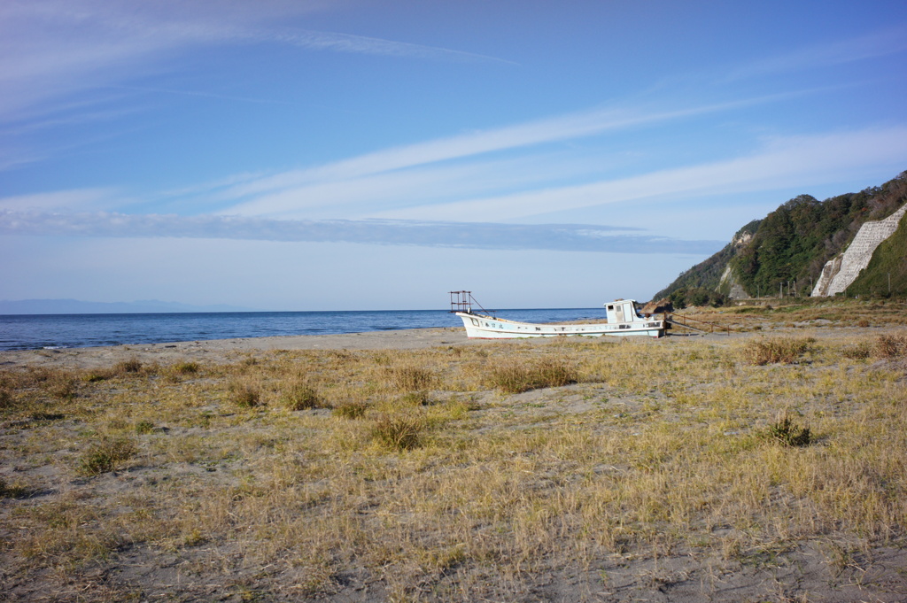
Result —
[{"label": "green forested slopes of the hill, excluding the pale retaining wall", "polygon": [[[890,216],[907,203],[907,172],[857,193],[847,193],[819,201],[800,195],[782,204],[765,219],[754,220],[740,229],[734,239],[711,258],[691,267],[673,283],[655,295],[670,297],[676,305],[719,303],[724,297],[756,297],[776,292],[784,284],[795,284],[797,295],[812,290],[826,261],[839,254],[868,220]],[[864,270],[858,279],[861,288],[853,292],[888,292],[892,275],[892,293],[907,294],[904,275],[907,223],[877,249],[878,260]],[[896,240],[894,240],[896,239]],[[875,276],[885,272],[884,287]],[[736,286],[736,287],[735,287]]]}]

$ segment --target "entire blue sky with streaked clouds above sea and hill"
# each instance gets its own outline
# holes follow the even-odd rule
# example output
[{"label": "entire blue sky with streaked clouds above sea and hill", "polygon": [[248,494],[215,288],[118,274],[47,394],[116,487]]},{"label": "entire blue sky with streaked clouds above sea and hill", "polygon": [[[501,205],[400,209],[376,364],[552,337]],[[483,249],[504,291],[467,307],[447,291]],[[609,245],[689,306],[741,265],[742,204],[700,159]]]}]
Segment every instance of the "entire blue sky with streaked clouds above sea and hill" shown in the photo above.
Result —
[{"label": "entire blue sky with streaked clouds above sea and hill", "polygon": [[5,0],[0,298],[645,300],[905,98],[902,0]]}]

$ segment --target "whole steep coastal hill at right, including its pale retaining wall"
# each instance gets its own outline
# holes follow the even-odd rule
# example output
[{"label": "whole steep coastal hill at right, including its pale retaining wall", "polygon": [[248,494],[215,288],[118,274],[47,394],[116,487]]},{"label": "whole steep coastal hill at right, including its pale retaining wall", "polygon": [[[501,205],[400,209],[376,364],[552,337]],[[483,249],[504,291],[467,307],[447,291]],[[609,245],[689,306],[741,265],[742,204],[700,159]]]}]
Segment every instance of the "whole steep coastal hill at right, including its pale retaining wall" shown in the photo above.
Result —
[{"label": "whole steep coastal hill at right, including its pale retaining wall", "polygon": [[819,201],[800,195],[739,229],[653,299],[677,307],[779,295],[907,296],[907,171]]}]

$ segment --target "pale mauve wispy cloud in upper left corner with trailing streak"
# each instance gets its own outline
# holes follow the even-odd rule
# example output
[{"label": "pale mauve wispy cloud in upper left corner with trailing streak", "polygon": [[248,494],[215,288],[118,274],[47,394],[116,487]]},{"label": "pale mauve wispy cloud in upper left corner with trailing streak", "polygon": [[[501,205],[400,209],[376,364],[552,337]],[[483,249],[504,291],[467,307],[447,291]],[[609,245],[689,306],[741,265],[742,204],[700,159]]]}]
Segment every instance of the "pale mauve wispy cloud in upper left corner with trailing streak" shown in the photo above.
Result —
[{"label": "pale mauve wispy cloud in upper left corner with trailing streak", "polygon": [[0,5],[0,122],[52,111],[48,102],[75,92],[171,70],[180,64],[172,61],[180,53],[212,44],[289,44],[313,51],[509,63],[457,49],[286,25],[336,7],[321,0],[138,5],[6,0]]}]

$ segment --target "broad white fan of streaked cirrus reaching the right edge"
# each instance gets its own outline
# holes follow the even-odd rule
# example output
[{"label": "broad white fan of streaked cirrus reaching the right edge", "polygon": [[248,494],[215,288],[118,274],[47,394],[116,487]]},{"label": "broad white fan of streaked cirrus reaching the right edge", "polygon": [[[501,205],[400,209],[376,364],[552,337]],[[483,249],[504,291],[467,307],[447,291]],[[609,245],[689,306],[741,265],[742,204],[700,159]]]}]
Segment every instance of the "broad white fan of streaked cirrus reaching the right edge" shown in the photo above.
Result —
[{"label": "broad white fan of streaked cirrus reaching the right edge", "polygon": [[[541,160],[544,154],[529,152],[552,141],[719,112],[739,104],[649,113],[580,112],[378,151],[219,190],[216,194],[221,200],[241,199],[219,213],[300,218],[313,211],[334,211],[336,217],[355,210],[358,216],[369,218],[482,221],[491,214],[516,220],[552,209],[581,209],[630,199],[779,190],[842,180],[868,168],[887,167],[886,172],[897,173],[907,164],[904,125],[770,137],[736,158],[647,170],[619,179],[601,179],[597,173],[601,158]],[[506,161],[483,157],[510,150],[519,150],[520,156]],[[589,164],[583,164],[584,160]],[[598,165],[593,165],[595,160]],[[559,183],[566,173],[564,167],[571,163],[576,169],[572,175],[589,181]],[[510,190],[503,190],[505,186]],[[459,199],[452,199],[457,196]]]}]

